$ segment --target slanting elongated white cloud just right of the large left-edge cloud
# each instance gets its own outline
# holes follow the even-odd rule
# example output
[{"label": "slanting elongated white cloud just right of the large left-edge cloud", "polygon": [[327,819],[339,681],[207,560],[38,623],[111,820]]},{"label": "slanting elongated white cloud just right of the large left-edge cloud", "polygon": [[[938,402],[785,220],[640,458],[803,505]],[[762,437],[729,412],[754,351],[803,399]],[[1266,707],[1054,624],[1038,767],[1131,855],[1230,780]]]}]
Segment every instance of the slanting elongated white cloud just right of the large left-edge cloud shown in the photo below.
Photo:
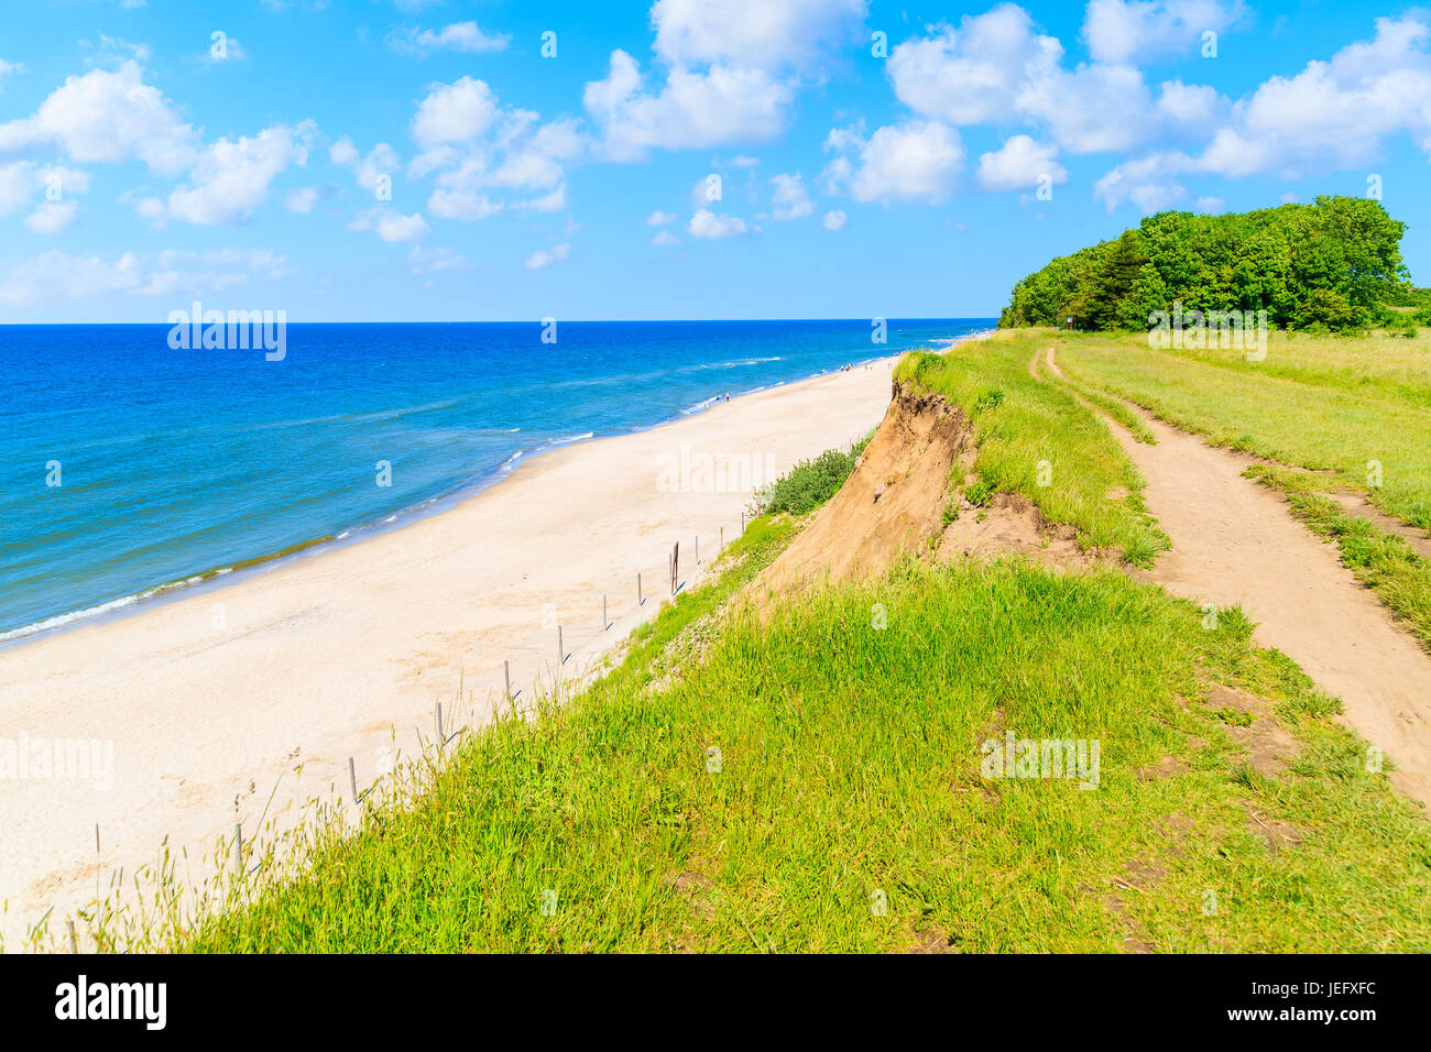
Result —
[{"label": "slanting elongated white cloud just right of the large left-edge cloud", "polygon": [[275,125],[252,139],[218,139],[205,149],[189,182],[169,195],[167,215],[212,226],[253,215],[268,199],[269,183],[289,165],[308,163],[311,122],[296,127]]}]

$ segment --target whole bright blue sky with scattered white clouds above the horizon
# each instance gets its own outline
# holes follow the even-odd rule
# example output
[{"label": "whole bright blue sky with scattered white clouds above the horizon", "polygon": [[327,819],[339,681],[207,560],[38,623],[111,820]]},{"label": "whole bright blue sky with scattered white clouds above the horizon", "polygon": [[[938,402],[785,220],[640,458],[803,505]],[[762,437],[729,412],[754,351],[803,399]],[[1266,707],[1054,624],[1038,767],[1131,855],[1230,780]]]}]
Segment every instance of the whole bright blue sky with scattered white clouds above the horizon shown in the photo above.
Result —
[{"label": "whole bright blue sky with scattered white clouds above the horizon", "polygon": [[1428,155],[1394,4],[7,4],[0,321],[985,316],[1369,185],[1431,283]]}]

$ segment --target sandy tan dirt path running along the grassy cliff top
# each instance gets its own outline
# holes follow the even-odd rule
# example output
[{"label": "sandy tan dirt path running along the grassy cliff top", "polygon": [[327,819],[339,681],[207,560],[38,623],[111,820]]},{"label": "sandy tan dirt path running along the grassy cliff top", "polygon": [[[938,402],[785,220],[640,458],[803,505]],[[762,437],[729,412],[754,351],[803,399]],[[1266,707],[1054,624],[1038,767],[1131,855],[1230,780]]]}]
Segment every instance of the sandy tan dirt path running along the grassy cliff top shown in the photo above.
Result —
[{"label": "sandy tan dirt path running along the grassy cliff top", "polygon": [[[1053,348],[1046,361],[1062,378]],[[1258,623],[1255,641],[1284,651],[1339,697],[1344,721],[1397,763],[1392,784],[1431,803],[1431,657],[1341,565],[1334,545],[1296,522],[1276,494],[1242,478],[1251,457],[1132,408],[1158,445],[1135,442],[1112,422],[1109,429],[1148,479],[1148,511],[1173,545],[1145,577],[1199,603],[1241,605]]]}]

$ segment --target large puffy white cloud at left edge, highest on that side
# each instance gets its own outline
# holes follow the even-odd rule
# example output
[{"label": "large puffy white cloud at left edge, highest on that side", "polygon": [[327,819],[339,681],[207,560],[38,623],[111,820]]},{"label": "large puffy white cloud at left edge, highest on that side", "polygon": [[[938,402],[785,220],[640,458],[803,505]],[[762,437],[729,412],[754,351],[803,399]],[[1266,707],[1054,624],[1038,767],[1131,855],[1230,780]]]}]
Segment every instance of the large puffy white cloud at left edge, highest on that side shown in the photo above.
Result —
[{"label": "large puffy white cloud at left edge, highest on that side", "polygon": [[163,93],[143,83],[139,63],[72,76],[29,117],[0,125],[0,156],[57,146],[77,162],[143,160],[177,175],[199,155],[199,135]]}]

